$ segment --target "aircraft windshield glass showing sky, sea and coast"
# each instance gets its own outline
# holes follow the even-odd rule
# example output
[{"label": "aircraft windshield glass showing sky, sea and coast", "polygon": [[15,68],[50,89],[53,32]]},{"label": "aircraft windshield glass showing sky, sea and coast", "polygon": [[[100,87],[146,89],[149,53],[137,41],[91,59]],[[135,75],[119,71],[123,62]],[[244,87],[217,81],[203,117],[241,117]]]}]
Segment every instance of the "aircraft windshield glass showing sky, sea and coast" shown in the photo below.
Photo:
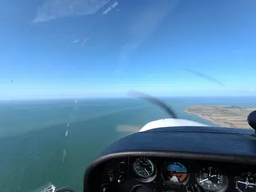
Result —
[{"label": "aircraft windshield glass showing sky, sea and coast", "polygon": [[1,191],[82,191],[105,147],[172,118],[129,90],[178,118],[250,129],[255,9],[255,0],[2,0]]}]

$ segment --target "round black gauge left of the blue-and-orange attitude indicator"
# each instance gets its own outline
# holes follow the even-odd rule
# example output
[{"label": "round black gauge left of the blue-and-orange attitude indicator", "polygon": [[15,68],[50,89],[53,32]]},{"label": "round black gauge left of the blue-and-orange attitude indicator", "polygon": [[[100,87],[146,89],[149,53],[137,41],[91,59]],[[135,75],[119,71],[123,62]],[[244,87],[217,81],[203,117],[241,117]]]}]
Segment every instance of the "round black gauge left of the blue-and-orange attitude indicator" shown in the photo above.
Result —
[{"label": "round black gauge left of the blue-and-orange attitude indicator", "polygon": [[148,158],[137,158],[133,163],[133,170],[140,178],[151,178],[156,174],[154,163]]}]

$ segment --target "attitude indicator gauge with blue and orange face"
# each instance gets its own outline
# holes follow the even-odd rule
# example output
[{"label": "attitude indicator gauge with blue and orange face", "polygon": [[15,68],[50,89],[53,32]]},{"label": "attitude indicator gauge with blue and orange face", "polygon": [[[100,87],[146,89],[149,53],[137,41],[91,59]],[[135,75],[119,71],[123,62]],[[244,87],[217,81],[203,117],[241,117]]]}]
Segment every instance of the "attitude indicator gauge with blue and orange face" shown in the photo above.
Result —
[{"label": "attitude indicator gauge with blue and orange face", "polygon": [[167,185],[186,185],[188,183],[188,170],[180,163],[165,163],[162,174]]}]

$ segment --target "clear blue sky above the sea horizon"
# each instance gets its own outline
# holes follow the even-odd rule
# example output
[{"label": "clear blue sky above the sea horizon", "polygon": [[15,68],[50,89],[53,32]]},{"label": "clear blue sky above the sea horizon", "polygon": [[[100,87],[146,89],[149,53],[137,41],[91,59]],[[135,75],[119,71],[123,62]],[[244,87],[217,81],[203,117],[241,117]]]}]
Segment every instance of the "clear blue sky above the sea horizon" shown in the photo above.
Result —
[{"label": "clear blue sky above the sea horizon", "polygon": [[256,95],[255,9],[255,0],[1,1],[0,99]]}]

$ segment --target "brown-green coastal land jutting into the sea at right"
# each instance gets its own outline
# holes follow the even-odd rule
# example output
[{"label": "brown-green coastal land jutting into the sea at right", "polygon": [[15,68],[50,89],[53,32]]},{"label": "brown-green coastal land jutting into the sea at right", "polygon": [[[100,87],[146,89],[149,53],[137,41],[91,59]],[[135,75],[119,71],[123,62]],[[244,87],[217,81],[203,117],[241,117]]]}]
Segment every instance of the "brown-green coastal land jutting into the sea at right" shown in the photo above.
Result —
[{"label": "brown-green coastal land jutting into the sea at right", "polygon": [[236,105],[192,105],[184,112],[205,118],[219,126],[232,128],[251,128],[247,116],[256,107],[240,107]]}]

